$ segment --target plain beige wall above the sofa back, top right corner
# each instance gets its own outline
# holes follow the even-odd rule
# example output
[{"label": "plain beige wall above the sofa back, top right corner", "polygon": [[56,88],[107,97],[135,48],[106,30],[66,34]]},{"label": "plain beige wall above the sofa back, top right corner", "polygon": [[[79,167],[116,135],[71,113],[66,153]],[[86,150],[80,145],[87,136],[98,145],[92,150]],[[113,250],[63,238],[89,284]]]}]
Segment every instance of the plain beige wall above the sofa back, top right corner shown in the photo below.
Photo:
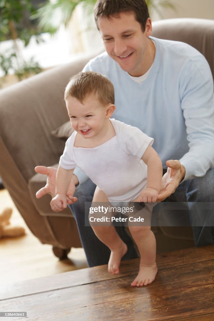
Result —
[{"label": "plain beige wall above the sofa back, top right corner", "polygon": [[[157,0],[158,1],[161,0]],[[169,18],[203,18],[214,20],[214,0],[171,0],[175,11],[169,8],[160,8],[164,19]],[[160,17],[154,12],[150,13],[153,21]]]}]

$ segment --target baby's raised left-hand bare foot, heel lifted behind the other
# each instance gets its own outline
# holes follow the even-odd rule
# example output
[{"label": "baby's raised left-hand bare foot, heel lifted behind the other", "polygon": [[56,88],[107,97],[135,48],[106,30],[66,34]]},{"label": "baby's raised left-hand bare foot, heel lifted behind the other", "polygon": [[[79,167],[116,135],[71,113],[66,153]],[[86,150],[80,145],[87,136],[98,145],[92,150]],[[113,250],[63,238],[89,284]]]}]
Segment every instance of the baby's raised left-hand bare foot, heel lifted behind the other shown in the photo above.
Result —
[{"label": "baby's raised left-hand bare foot, heel lifted behind the other", "polygon": [[125,243],[121,242],[121,246],[114,251],[111,251],[108,271],[111,274],[118,274],[121,258],[126,254],[127,246]]}]

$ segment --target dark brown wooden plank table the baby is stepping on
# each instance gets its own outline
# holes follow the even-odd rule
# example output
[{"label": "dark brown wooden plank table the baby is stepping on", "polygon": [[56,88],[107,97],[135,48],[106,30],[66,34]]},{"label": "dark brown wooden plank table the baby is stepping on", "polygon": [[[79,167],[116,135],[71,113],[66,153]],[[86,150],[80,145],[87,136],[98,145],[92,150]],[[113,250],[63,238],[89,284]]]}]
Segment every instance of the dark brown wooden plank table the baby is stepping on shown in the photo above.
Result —
[{"label": "dark brown wooden plank table the baby is stepping on", "polygon": [[[97,266],[0,287],[1,311],[27,311],[29,321],[213,321],[214,245],[157,256],[155,282],[132,288],[139,259],[118,276]],[[26,320],[2,317],[2,320]]]}]

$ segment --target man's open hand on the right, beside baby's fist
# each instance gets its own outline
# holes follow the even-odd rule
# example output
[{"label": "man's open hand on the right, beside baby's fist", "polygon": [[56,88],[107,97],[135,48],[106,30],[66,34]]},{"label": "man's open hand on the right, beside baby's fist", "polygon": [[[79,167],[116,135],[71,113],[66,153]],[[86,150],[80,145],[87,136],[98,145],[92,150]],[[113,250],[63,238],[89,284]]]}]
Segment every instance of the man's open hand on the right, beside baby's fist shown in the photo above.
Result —
[{"label": "man's open hand on the right, beside baby's fist", "polygon": [[185,168],[179,160],[167,160],[167,172],[162,177],[161,191],[157,196],[157,201],[161,202],[173,194],[180,181],[185,176]]}]

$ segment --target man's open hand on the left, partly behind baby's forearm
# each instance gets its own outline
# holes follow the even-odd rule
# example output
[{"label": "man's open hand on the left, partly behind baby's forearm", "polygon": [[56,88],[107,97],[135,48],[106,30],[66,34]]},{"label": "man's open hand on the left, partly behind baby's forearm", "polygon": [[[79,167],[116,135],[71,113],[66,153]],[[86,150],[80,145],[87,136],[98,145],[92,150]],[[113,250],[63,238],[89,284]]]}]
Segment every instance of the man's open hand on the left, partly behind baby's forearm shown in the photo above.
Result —
[{"label": "man's open hand on the left, partly behind baby's forearm", "polygon": [[[46,194],[50,194],[51,197],[53,198],[55,196],[55,187],[56,187],[56,174],[57,174],[57,169],[54,167],[46,167],[46,166],[36,166],[35,171],[39,174],[47,175],[47,182],[44,187],[42,187],[37,193],[36,197],[41,198],[42,196]],[[77,185],[79,183],[78,178],[76,175],[72,176],[72,180],[68,186],[68,195],[71,195],[73,191],[75,191],[74,184]],[[73,194],[72,194],[73,195]],[[77,199],[76,199],[77,201]],[[68,200],[67,199],[67,204],[74,203],[75,200]]]}]

